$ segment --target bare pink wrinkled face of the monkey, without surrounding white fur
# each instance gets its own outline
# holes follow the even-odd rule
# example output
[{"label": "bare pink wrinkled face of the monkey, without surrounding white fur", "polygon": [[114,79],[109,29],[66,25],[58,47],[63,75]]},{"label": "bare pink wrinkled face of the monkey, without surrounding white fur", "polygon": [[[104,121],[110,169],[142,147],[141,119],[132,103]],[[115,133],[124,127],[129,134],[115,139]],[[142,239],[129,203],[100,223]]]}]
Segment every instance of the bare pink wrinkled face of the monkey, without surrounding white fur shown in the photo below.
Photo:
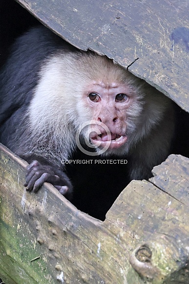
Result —
[{"label": "bare pink wrinkled face of the monkey, without surrounding white fur", "polygon": [[[126,148],[128,140],[127,131],[127,110],[136,101],[136,94],[131,93],[126,84],[113,82],[105,84],[103,82],[92,82],[86,87],[83,94],[85,109],[90,109],[91,120],[97,124],[91,124],[89,138],[92,144],[102,149],[109,142],[109,152],[116,153],[120,148]],[[102,126],[99,125],[102,123]],[[109,129],[109,135],[103,124]],[[98,133],[97,133],[98,132]],[[119,151],[119,150],[118,150]]]}]

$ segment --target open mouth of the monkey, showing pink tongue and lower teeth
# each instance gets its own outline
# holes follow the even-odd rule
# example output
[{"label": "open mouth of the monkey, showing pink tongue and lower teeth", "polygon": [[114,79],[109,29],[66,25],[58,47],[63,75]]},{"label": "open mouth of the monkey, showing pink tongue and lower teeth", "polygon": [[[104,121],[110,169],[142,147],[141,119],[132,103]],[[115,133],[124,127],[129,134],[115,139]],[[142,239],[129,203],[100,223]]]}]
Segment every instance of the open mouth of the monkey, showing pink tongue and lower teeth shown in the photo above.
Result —
[{"label": "open mouth of the monkey, showing pink tongue and lower teeth", "polygon": [[[111,135],[111,139],[110,139]],[[107,143],[110,143],[109,149],[119,148],[126,143],[127,137],[126,135],[121,135],[118,133],[110,132],[108,135],[106,132],[101,134],[96,134],[95,136],[90,137],[92,144],[97,144],[101,142],[99,148],[105,147]]]}]

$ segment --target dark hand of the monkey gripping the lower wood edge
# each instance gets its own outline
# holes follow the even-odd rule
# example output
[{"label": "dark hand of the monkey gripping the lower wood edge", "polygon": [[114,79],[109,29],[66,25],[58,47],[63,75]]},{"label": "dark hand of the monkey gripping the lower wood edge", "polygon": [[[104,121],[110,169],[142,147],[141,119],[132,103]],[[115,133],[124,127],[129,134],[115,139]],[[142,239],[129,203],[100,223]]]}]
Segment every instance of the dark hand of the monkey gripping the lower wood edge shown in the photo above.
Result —
[{"label": "dark hand of the monkey gripping the lower wood edge", "polygon": [[37,160],[31,162],[26,168],[26,191],[37,192],[42,184],[50,182],[63,196],[71,199],[72,184],[65,173],[57,170],[55,166],[42,165]]}]

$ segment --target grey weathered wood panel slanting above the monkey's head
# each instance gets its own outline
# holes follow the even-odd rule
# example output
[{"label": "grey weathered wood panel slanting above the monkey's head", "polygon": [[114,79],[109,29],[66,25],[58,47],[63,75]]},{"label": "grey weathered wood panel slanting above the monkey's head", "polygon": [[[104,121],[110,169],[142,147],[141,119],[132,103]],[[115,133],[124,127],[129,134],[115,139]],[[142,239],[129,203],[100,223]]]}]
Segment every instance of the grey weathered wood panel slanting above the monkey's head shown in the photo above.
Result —
[{"label": "grey weathered wood panel slanting above the monkey's head", "polygon": [[189,111],[189,1],[17,2],[66,41],[129,66]]}]

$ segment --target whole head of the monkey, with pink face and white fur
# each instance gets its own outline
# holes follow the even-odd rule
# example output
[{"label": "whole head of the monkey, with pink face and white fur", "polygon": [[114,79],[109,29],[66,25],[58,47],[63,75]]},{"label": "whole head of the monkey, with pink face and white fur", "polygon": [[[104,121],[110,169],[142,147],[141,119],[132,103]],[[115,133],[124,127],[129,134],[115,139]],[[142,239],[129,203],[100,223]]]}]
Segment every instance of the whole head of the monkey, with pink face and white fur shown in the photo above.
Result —
[{"label": "whole head of the monkey, with pink face and white fur", "polygon": [[63,157],[78,137],[98,154],[105,148],[104,155],[123,155],[161,121],[168,100],[162,96],[105,56],[57,54],[42,66],[28,125],[40,145],[51,141]]}]

